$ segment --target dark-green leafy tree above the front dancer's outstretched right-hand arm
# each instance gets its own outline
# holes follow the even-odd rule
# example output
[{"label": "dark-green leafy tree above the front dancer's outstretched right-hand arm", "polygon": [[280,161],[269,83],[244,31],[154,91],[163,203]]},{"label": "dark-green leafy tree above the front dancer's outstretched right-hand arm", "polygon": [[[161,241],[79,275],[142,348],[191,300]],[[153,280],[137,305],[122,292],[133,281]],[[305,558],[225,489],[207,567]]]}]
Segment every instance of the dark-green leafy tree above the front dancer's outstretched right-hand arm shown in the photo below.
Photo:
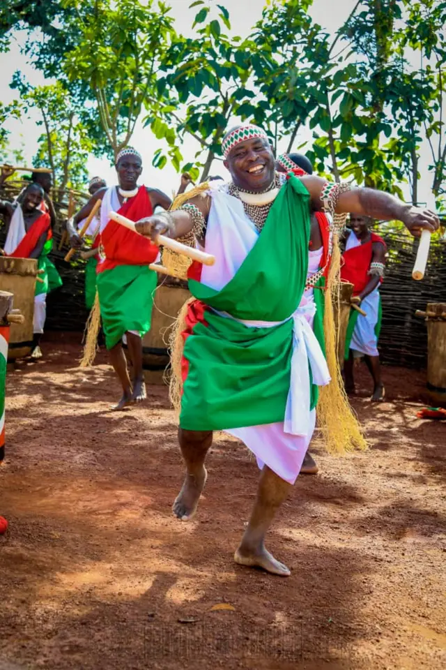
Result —
[{"label": "dark-green leafy tree above the front dancer's outstretched right-hand arm", "polygon": [[[392,128],[378,112],[378,84],[374,88],[371,77],[364,77],[360,62],[351,58],[353,45],[346,41],[346,27],[360,4],[334,36],[312,21],[312,0],[267,7],[256,42],[275,54],[277,65],[272,76],[261,77],[257,84],[275,110],[282,135],[292,129],[289,149],[307,124],[314,135],[307,153],[319,172],[331,172],[337,181],[354,177],[360,184],[373,181],[392,188],[394,171],[380,146],[381,135],[390,135]],[[369,23],[365,15],[362,20]],[[383,60],[379,63],[382,68]],[[379,77],[376,81],[381,85]]]}]

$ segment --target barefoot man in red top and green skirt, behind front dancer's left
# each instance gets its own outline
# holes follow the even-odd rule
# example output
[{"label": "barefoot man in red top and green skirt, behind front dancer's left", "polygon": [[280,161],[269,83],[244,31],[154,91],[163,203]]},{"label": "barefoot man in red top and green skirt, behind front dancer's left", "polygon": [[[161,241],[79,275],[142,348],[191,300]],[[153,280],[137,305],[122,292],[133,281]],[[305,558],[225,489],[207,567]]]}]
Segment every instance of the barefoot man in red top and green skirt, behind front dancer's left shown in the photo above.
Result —
[{"label": "barefoot man in red top and green skirt, behind front dancer's left", "polygon": [[[118,186],[102,186],[68,224],[70,242],[78,247],[79,221],[89,216],[97,200],[100,207],[100,250],[104,258],[98,263],[97,285],[105,345],[110,352],[114,371],[123,388],[121,400],[113,409],[121,410],[130,403],[146,398],[142,364],[142,338],[151,327],[153,293],[157,276],[148,269],[158,255],[150,240],[123,228],[109,218],[118,211],[132,221],[151,216],[155,207],[169,209],[171,200],[156,188],[137,186],[142,172],[141,155],[127,147],[116,156]],[[162,218],[162,214],[157,214]],[[123,336],[127,338],[132,362],[132,380],[123,352]]]}]

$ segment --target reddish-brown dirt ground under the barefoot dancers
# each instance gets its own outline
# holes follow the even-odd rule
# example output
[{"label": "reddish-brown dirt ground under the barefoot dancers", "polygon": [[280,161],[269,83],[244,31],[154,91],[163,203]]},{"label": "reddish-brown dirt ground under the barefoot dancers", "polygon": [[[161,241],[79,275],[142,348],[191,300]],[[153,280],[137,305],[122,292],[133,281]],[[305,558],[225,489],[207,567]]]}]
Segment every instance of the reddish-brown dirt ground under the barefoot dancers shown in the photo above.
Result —
[{"label": "reddish-brown dirt ground under the barefoot dancers", "polygon": [[180,523],[167,389],[113,414],[102,354],[85,371],[77,345],[43,349],[8,377],[0,669],[446,667],[446,425],[416,417],[424,373],[386,367],[387,402],[355,399],[369,452],[333,459],[316,440],[321,474],[270,533],[280,579],[232,560],[258,478],[244,447],[218,436]]}]

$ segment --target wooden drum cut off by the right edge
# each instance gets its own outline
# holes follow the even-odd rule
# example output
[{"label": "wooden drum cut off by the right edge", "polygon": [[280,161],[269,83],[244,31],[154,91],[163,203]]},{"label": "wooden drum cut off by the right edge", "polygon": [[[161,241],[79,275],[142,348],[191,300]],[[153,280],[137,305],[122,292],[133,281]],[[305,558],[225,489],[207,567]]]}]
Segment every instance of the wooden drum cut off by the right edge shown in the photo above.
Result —
[{"label": "wooden drum cut off by the right edge", "polygon": [[427,391],[436,405],[446,406],[446,303],[429,302],[427,324]]}]

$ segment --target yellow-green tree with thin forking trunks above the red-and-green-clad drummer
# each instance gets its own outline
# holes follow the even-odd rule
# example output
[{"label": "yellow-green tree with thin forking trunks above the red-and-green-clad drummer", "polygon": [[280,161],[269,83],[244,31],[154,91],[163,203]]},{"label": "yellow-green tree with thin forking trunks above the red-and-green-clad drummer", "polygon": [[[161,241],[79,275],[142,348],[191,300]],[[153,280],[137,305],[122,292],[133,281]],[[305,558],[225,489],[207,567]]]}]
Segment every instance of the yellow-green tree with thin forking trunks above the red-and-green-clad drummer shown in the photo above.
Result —
[{"label": "yellow-green tree with thin forking trunks above the red-and-green-clad drummer", "polygon": [[77,22],[78,43],[63,67],[70,80],[88,84],[115,157],[130,142],[143,103],[157,100],[157,70],[174,35],[169,11],[162,2],[96,0]]}]

